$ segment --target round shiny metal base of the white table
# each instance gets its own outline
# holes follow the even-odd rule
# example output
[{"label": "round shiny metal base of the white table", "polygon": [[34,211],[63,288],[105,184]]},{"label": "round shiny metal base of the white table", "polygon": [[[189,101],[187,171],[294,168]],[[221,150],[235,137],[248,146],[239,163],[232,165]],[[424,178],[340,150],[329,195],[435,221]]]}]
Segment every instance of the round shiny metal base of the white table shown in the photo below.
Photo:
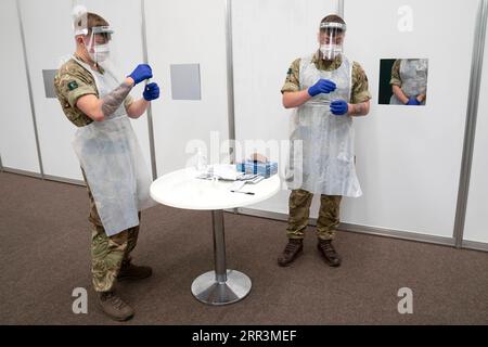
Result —
[{"label": "round shiny metal base of the white table", "polygon": [[251,286],[251,279],[242,272],[227,270],[227,282],[217,282],[215,271],[208,271],[193,281],[192,293],[202,303],[228,305],[246,297]]}]

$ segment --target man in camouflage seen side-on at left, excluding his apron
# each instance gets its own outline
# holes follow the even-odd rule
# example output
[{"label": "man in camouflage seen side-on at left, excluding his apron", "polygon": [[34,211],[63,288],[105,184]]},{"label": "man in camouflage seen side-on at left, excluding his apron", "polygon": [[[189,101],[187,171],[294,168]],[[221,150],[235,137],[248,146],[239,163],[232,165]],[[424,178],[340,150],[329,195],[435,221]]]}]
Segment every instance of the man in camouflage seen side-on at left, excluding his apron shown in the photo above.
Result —
[{"label": "man in camouflage seen side-on at left, excluding his apron", "polygon": [[[129,95],[129,92],[133,85],[152,76],[151,68],[149,65],[139,65],[137,68],[139,75],[132,73],[124,83],[102,98],[90,69],[102,75],[104,70],[97,61],[93,61],[93,53],[90,51],[88,42],[97,39],[101,41],[99,44],[106,43],[106,37],[103,35],[91,36],[90,39],[90,31],[92,28],[107,27],[108,23],[94,13],[82,15],[85,20],[80,17],[75,20],[76,52],[60,67],[54,78],[55,92],[63,113],[80,129],[93,121],[110,119],[108,116],[113,110],[119,110],[120,104],[124,105],[129,117],[138,118],[145,112],[150,101],[158,98],[159,89],[156,83],[147,85],[143,98],[137,101]],[[98,104],[100,102],[102,102],[101,105]],[[130,253],[137,244],[139,226],[113,235],[106,234],[86,171],[84,169],[81,171],[90,200],[93,288],[98,293],[103,311],[115,320],[124,321],[133,316],[133,309],[115,292],[116,281],[144,279],[152,274],[152,269],[131,262]],[[139,213],[139,220],[140,216]]]}]

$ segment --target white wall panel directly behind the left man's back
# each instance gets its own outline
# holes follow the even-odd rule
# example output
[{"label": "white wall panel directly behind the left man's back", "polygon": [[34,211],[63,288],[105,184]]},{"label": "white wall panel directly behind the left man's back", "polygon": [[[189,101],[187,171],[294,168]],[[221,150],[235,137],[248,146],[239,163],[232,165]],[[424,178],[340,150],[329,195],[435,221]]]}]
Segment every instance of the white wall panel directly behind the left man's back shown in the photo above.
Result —
[{"label": "white wall panel directly behind the left man's back", "polygon": [[57,99],[46,98],[42,69],[59,68],[74,51],[72,2],[20,0],[42,165],[47,176],[81,179],[70,145],[75,127]]}]

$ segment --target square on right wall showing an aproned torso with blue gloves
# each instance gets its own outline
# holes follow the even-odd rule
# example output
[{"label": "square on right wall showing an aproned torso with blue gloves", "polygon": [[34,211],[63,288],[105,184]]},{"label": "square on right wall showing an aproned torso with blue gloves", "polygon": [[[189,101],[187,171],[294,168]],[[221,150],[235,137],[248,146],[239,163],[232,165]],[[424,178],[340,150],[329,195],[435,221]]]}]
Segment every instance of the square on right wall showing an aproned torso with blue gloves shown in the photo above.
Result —
[{"label": "square on right wall showing an aproned torso with blue gloves", "polygon": [[382,59],[380,100],[383,105],[425,105],[427,99],[427,59]]}]

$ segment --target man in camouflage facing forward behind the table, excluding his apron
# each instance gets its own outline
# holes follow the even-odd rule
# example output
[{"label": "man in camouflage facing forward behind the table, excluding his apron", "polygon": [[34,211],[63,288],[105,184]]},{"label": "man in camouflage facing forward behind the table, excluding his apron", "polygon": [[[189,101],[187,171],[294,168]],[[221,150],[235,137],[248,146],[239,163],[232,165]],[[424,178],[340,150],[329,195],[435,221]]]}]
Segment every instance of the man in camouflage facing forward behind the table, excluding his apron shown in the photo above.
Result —
[{"label": "man in camouflage facing forward behind the table, excluding his apron", "polygon": [[[336,15],[329,15],[321,21],[321,28],[330,23],[339,23],[344,25],[344,21]],[[324,39],[323,36],[326,34],[323,29],[319,33],[319,41],[321,44]],[[339,34],[344,34],[339,31]],[[328,34],[329,35],[329,34]],[[338,39],[342,39],[343,35],[339,35]],[[329,39],[329,37],[328,37]],[[342,42],[338,42],[342,43]],[[336,72],[343,64],[343,61],[346,60],[344,54],[338,54],[335,57],[329,60],[324,57],[324,53],[321,50],[318,50],[312,57],[310,59],[310,65],[314,65],[312,68],[317,68],[319,72]],[[313,99],[320,98],[335,88],[339,88],[339,86],[335,86],[334,81],[320,79],[314,86],[310,88],[306,88],[306,86],[300,85],[300,66],[301,59],[297,59],[292,63],[286,76],[285,83],[281,90],[283,94],[283,105],[286,108],[290,107],[304,107],[304,104],[313,101]],[[326,112],[332,112],[332,114],[320,114],[319,118],[324,119],[325,117],[336,118],[338,117],[352,117],[352,116],[364,116],[369,113],[369,100],[371,99],[371,94],[368,90],[368,77],[362,69],[362,67],[354,62],[351,64],[350,72],[350,89],[349,94],[350,99],[346,101],[334,101],[330,103],[329,106],[322,106],[328,108]],[[318,92],[311,92],[313,89],[318,89]],[[331,97],[332,98],[332,97]],[[316,108],[317,110],[317,108]],[[333,119],[334,120],[334,119]],[[334,129],[332,129],[334,131]],[[328,141],[326,137],[322,138]],[[318,141],[317,141],[318,142]],[[324,143],[313,143],[316,146],[324,146]],[[323,152],[322,156],[329,156],[330,153]],[[332,154],[331,154],[332,156]],[[305,158],[304,158],[305,160]],[[354,157],[352,162],[356,160]],[[352,163],[354,166],[355,163]],[[328,168],[318,168],[318,170],[328,169]],[[328,189],[325,189],[326,191]],[[348,196],[359,196],[360,189],[358,183],[358,192],[355,192]],[[296,257],[303,252],[303,239],[305,235],[305,230],[308,224],[310,204],[312,201],[313,193],[321,195],[321,204],[319,218],[317,220],[317,236],[318,236],[318,248],[325,260],[325,262],[333,267],[338,267],[341,265],[341,257],[336,253],[335,248],[332,245],[332,240],[335,237],[336,228],[339,224],[339,204],[343,194],[325,194],[322,191],[310,192],[300,187],[293,189],[290,195],[290,217],[288,217],[288,227],[287,227],[287,237],[288,243],[283,250],[282,255],[278,259],[279,266],[285,267],[292,264]]]}]

